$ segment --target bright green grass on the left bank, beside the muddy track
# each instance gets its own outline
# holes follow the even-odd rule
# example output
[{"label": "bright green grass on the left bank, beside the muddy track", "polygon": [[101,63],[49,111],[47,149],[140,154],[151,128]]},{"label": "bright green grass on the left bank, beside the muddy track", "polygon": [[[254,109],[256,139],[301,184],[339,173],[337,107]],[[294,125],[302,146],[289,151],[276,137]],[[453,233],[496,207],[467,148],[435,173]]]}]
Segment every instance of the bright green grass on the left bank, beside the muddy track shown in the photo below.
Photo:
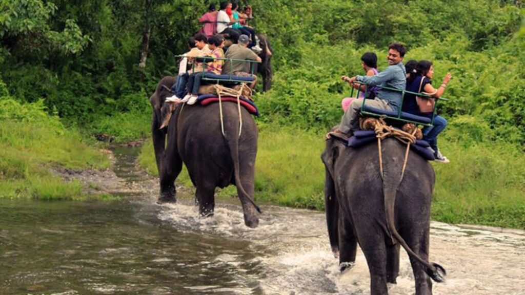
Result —
[{"label": "bright green grass on the left bank, beside the muddy track", "polygon": [[6,98],[0,102],[0,198],[89,197],[82,194],[79,182],[64,182],[50,169],[105,168],[110,165],[108,157],[41,107]]}]

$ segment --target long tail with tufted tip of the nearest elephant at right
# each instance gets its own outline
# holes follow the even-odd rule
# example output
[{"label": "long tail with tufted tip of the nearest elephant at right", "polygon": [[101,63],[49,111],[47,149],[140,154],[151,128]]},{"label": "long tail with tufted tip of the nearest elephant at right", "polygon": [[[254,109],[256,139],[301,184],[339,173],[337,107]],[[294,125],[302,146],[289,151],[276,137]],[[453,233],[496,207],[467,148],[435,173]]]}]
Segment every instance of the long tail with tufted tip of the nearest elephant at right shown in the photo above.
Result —
[{"label": "long tail with tufted tip of the nearest elephant at right", "polygon": [[[386,176],[388,175],[388,176]],[[401,171],[399,173],[395,173],[393,171],[390,171],[390,173],[385,173],[385,176],[383,178],[383,193],[384,193],[384,205],[385,205],[385,215],[386,215],[386,223],[388,226],[388,229],[390,229],[390,233],[392,234],[392,237],[397,240],[401,246],[405,249],[408,256],[412,257],[413,259],[416,259],[423,265],[425,268],[425,272],[427,275],[432,278],[436,282],[444,282],[445,277],[447,275],[446,270],[436,264],[435,262],[428,262],[421,258],[419,255],[417,255],[409,246],[406,244],[406,241],[401,237],[401,235],[397,232],[397,229],[395,228],[395,222],[394,222],[394,207],[395,207],[395,198],[397,194],[397,188],[401,184],[402,181],[402,175]]]}]

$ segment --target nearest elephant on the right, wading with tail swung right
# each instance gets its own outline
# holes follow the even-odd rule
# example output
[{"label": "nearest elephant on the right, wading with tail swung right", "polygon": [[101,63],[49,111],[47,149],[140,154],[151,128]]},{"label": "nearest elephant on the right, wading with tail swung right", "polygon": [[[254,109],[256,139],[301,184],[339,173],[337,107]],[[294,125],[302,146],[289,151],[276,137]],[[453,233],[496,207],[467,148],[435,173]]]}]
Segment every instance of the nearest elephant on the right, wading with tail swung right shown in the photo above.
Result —
[{"label": "nearest elephant on the right, wading with tail swung right", "polygon": [[383,174],[377,146],[354,149],[327,141],[321,160],[330,245],[344,271],[355,263],[359,243],[369,266],[372,295],[388,294],[387,282],[396,282],[403,246],[414,272],[416,295],[429,295],[430,278],[441,282],[446,275],[442,266],[428,262],[434,170],[410,151],[402,176],[406,145],[393,138],[381,145]]}]

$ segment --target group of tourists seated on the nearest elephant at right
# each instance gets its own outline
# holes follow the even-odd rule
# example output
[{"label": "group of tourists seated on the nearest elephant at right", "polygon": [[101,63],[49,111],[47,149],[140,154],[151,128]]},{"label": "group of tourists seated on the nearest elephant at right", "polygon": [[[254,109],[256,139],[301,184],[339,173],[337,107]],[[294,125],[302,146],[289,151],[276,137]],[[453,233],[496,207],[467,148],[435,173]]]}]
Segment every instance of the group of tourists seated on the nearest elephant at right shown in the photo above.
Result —
[{"label": "group of tourists seated on the nearest elephant at right", "polygon": [[[433,149],[436,162],[448,163],[447,157],[437,147],[437,136],[445,129],[447,120],[440,115],[434,115],[433,107],[423,108],[421,103],[418,103],[418,98],[415,94],[405,93],[404,97],[402,97],[402,91],[393,91],[382,87],[425,93],[432,98],[439,98],[445,91],[452,76],[450,73],[447,73],[442,84],[435,89],[432,86],[432,78],[434,77],[432,62],[428,60],[409,60],[405,66],[403,65],[405,53],[406,49],[402,44],[393,43],[388,46],[388,67],[379,72],[377,71],[377,56],[373,52],[366,52],[361,57],[362,67],[366,75],[351,78],[341,77],[342,80],[350,83],[352,87],[360,88],[361,97],[343,99],[344,114],[339,128],[330,132],[329,135],[348,140],[352,135],[352,131],[359,129],[359,111],[363,105],[363,100],[367,107],[379,110],[398,111],[401,108],[404,112],[421,117],[432,118],[434,116],[433,126],[423,129],[423,140],[427,141],[430,148]],[[369,89],[366,89],[365,85],[354,83],[354,81],[366,83]],[[366,98],[364,97],[365,93],[367,93]]]}]

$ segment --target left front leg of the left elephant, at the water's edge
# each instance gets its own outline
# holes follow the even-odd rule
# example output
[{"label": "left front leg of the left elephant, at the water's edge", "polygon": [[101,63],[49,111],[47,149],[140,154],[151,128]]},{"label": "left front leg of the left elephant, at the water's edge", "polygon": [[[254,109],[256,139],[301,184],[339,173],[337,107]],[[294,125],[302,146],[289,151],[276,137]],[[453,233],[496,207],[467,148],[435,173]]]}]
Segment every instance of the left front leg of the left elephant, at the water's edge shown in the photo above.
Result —
[{"label": "left front leg of the left elephant, at the water's edge", "polygon": [[[173,121],[173,120],[172,120]],[[182,171],[182,159],[178,154],[176,134],[174,124],[170,123],[167,141],[167,148],[164,151],[163,161],[161,163],[160,185],[161,192],[158,203],[176,202],[175,179]]]}]

